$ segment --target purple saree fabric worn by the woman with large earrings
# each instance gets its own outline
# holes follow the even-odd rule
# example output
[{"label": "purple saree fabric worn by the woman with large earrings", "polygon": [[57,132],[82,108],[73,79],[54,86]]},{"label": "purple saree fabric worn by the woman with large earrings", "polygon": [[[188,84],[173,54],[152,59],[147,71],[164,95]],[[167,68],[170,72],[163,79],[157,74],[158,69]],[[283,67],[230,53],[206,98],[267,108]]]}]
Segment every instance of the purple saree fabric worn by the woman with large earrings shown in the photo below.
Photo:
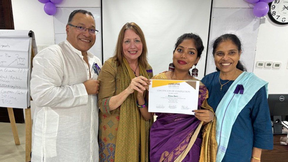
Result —
[{"label": "purple saree fabric worn by the woman with large earrings", "polygon": [[[207,98],[207,88],[200,84],[198,109]],[[158,117],[150,130],[150,160],[172,162],[187,147],[190,138],[200,123],[193,115],[155,113]],[[202,131],[183,161],[197,162],[200,156]]]}]

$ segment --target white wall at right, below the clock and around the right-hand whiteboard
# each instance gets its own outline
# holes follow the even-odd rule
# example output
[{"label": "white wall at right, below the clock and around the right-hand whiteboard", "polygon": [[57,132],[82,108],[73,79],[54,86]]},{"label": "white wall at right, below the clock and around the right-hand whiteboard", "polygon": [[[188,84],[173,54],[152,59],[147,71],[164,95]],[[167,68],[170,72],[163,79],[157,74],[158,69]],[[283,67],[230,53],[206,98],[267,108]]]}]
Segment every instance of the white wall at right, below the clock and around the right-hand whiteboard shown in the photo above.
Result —
[{"label": "white wall at right, below the clock and around the right-hand whiteboard", "polygon": [[[252,10],[253,5],[244,0],[213,0],[213,8],[251,8]],[[266,23],[259,26],[253,72],[269,82],[269,94],[287,94],[288,25],[277,25],[270,21],[268,15],[265,17]],[[282,66],[278,70],[258,69],[257,61],[281,62]]]}]

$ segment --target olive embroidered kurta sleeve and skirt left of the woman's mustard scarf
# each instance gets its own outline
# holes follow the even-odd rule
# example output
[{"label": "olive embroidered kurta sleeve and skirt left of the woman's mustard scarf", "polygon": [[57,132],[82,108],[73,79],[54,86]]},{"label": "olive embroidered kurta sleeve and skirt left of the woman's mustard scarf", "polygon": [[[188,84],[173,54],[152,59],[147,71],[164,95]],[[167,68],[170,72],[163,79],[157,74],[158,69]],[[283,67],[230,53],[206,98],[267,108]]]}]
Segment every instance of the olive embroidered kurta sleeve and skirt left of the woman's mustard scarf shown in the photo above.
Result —
[{"label": "olive embroidered kurta sleeve and skirt left of the woman's mustard scarf", "polygon": [[[118,123],[120,119],[120,109],[115,109],[110,112],[109,99],[111,96],[119,94],[119,71],[117,72],[117,66],[113,63],[112,59],[105,62],[105,67],[101,69],[101,91],[98,94],[99,108],[99,156],[101,161],[104,159],[111,159],[115,154],[116,134],[118,130]],[[111,75],[107,75],[107,74]],[[108,82],[103,81],[103,79]],[[105,82],[105,84],[103,84]],[[108,116],[108,118],[107,118]],[[113,157],[114,159],[114,157]]]}]

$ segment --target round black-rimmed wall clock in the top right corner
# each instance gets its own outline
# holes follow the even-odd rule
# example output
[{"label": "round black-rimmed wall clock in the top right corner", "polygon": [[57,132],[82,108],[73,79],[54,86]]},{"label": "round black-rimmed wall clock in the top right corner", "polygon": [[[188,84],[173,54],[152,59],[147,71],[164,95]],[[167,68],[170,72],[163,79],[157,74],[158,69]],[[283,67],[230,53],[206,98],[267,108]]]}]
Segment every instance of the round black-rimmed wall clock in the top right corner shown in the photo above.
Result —
[{"label": "round black-rimmed wall clock in the top right corner", "polygon": [[269,3],[269,18],[277,24],[288,24],[288,0],[275,0]]}]

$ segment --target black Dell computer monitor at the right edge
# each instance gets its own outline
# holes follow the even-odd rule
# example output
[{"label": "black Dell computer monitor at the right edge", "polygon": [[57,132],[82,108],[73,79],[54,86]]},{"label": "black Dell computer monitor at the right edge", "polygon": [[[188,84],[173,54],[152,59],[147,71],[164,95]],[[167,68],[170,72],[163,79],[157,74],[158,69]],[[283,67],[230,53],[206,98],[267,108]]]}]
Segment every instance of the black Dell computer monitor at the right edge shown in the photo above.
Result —
[{"label": "black Dell computer monitor at the right edge", "polygon": [[269,94],[268,105],[271,121],[274,122],[273,134],[282,134],[281,122],[288,120],[288,94]]}]

